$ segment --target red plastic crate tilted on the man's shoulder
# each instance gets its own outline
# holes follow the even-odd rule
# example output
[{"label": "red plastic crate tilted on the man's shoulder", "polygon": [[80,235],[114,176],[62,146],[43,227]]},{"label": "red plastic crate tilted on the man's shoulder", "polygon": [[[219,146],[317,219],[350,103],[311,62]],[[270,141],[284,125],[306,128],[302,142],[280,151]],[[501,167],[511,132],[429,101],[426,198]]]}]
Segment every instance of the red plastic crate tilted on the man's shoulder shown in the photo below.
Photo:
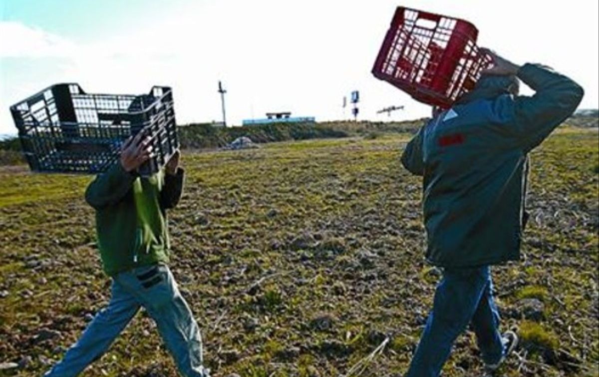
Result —
[{"label": "red plastic crate tilted on the man's shoulder", "polygon": [[398,7],[372,73],[417,101],[449,108],[492,64],[477,36],[467,21]]}]

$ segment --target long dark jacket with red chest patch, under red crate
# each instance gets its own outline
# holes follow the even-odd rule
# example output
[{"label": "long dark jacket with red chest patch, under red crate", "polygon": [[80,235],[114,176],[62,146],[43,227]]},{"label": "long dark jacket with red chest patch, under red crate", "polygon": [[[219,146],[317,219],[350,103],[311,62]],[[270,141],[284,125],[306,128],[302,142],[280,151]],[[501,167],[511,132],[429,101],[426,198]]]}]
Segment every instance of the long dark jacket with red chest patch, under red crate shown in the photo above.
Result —
[{"label": "long dark jacket with red chest patch, under red crate", "polygon": [[404,167],[423,176],[431,264],[471,267],[519,259],[527,153],[576,110],[583,90],[539,65],[524,65],[518,77],[536,94],[512,96],[501,88],[505,79],[481,79],[404,150]]}]

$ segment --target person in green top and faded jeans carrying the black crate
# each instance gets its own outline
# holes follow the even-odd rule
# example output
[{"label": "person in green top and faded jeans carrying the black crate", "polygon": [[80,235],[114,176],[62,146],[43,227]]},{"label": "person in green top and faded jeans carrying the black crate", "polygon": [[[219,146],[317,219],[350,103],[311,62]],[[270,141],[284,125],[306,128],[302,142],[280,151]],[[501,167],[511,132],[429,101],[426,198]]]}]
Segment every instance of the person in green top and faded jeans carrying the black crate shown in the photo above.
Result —
[{"label": "person in green top and faded jeans carrying the black crate", "polygon": [[135,171],[151,156],[150,140],[139,132],[123,144],[120,162],[87,187],[85,198],[96,210],[102,265],[113,279],[112,295],[46,376],[78,375],[107,351],[142,306],[156,321],[179,372],[208,376],[198,325],[167,267],[166,211],[177,205],[183,190],[179,152],[158,173],[140,177]]}]

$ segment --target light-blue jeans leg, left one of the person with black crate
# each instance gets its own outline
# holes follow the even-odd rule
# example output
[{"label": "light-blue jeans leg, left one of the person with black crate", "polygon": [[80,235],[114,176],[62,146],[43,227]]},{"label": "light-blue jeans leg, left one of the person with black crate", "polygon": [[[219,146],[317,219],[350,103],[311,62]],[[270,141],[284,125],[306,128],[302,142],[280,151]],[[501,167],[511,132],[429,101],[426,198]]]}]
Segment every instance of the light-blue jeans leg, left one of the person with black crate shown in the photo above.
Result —
[{"label": "light-blue jeans leg, left one of the person with black crate", "polygon": [[135,297],[113,282],[108,306],[96,314],[77,343],[72,345],[64,358],[44,376],[77,376],[106,352],[139,308],[140,304]]}]

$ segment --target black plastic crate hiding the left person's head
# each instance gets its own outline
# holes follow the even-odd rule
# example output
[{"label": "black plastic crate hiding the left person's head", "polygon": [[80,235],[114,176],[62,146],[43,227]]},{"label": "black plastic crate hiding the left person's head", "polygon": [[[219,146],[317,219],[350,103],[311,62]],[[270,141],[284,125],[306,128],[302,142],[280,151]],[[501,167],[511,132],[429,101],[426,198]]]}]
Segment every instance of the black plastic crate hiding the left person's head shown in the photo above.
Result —
[{"label": "black plastic crate hiding the left person's head", "polygon": [[11,106],[23,153],[33,171],[102,173],[120,163],[123,141],[138,132],[151,138],[153,157],[138,168],[156,173],[179,149],[173,92],[87,94],[75,83],[58,84]]}]

